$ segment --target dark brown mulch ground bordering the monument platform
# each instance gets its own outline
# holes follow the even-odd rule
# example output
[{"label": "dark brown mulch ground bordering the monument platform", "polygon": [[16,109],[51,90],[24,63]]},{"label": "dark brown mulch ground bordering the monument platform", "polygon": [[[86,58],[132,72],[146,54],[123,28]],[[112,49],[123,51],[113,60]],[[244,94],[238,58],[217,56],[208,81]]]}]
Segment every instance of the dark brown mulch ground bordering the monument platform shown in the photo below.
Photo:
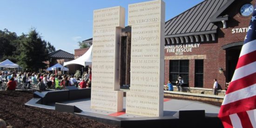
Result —
[{"label": "dark brown mulch ground bordering the monument platform", "polygon": [[[6,121],[7,126],[16,128],[119,128],[69,113],[26,106],[25,103],[33,98],[33,93],[34,91],[0,91],[0,119]],[[165,98],[191,101],[180,97]],[[195,101],[221,106],[219,102]]]}]

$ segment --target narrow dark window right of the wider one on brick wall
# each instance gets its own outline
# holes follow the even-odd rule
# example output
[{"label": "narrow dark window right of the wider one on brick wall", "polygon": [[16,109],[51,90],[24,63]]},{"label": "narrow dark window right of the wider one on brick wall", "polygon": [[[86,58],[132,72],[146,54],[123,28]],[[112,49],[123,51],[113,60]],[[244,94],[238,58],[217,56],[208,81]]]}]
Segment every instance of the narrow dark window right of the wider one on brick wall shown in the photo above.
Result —
[{"label": "narrow dark window right of the wider one on brick wall", "polygon": [[195,87],[203,87],[203,60],[195,60]]}]

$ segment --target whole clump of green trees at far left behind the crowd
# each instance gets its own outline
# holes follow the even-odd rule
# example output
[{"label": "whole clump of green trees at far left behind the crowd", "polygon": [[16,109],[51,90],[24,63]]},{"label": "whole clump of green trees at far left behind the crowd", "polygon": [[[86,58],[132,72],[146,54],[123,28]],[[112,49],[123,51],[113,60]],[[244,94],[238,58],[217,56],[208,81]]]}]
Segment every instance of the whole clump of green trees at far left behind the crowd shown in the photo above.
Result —
[{"label": "whole clump of green trees at far left behind the crowd", "polygon": [[7,29],[0,30],[0,47],[0,61],[9,59],[33,71],[45,68],[43,61],[47,61],[48,53],[55,51],[50,42],[41,39],[35,28],[20,36]]}]

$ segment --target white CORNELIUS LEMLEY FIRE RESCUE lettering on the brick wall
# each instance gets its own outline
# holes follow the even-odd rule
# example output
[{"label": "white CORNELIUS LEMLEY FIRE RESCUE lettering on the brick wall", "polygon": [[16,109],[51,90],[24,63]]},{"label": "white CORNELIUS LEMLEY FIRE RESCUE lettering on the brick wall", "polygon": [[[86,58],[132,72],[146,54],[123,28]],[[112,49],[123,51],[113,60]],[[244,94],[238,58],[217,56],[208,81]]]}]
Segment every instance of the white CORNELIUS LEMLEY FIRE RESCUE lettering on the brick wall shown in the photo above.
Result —
[{"label": "white CORNELIUS LEMLEY FIRE RESCUE lettering on the brick wall", "polygon": [[182,55],[183,52],[192,52],[193,48],[199,47],[200,43],[195,44],[179,44],[165,46],[167,53],[175,53],[175,55]]}]

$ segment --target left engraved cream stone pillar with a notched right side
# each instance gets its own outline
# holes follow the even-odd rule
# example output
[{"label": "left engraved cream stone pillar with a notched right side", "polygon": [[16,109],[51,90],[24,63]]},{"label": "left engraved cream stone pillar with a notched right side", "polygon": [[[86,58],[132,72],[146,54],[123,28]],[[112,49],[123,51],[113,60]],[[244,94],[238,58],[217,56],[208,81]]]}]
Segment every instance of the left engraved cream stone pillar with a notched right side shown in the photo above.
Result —
[{"label": "left engraved cream stone pillar with a notched right side", "polygon": [[91,108],[123,110],[119,85],[119,49],[125,9],[110,7],[94,10]]}]

